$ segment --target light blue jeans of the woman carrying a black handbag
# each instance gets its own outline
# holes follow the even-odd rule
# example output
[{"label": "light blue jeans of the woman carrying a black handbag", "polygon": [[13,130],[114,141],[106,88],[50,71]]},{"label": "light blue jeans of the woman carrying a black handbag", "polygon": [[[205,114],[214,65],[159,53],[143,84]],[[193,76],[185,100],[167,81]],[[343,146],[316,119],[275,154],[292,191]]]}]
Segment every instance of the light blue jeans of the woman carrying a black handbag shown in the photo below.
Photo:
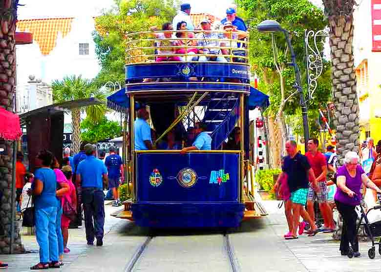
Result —
[{"label": "light blue jeans of the woman carrying a black handbag", "polygon": [[57,207],[35,209],[36,239],[40,245],[40,262],[58,261],[56,232]]}]

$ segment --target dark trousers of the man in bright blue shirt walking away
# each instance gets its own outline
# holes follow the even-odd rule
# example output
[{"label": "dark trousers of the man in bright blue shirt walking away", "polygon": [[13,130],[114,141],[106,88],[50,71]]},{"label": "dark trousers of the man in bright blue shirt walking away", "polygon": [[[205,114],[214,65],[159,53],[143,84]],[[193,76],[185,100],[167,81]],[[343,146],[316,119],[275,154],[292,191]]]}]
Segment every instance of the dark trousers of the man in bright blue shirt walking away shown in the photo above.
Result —
[{"label": "dark trousers of the man in bright blue shirt walking away", "polygon": [[102,240],[105,232],[105,195],[102,188],[82,188],[82,203],[87,242],[94,242],[94,237]]}]

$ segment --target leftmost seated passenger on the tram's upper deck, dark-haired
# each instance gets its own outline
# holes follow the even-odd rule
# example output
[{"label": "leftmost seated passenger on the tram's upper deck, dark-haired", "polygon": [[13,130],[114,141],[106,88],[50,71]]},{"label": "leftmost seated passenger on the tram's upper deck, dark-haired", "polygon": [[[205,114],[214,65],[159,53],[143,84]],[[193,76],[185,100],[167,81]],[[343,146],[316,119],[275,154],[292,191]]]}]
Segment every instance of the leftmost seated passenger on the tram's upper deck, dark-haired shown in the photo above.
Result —
[{"label": "leftmost seated passenger on the tram's upper deck, dark-haired", "polygon": [[[151,31],[156,31],[157,27],[152,26],[150,29]],[[173,30],[172,24],[170,22],[164,23],[162,26],[162,30]],[[156,45],[158,46],[157,48],[158,55],[171,55],[176,53],[175,48],[165,47],[165,46],[176,46],[176,41],[170,40],[172,38],[172,34],[173,32],[171,31],[153,33],[156,39],[162,39],[156,42]],[[181,62],[181,61],[182,61],[182,58],[178,56],[162,56],[162,57],[156,58],[156,62]]]}]

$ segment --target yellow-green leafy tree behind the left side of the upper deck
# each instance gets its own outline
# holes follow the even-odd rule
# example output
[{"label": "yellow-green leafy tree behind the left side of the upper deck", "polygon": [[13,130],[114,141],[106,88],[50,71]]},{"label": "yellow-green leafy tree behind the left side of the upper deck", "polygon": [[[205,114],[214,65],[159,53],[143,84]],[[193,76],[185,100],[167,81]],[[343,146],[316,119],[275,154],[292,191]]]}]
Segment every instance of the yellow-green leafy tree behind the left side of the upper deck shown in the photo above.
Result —
[{"label": "yellow-green leafy tree behind the left side of the upper deck", "polygon": [[115,0],[115,8],[95,19],[95,52],[101,64],[96,82],[125,81],[126,34],[148,31],[150,26],[172,21],[173,0]]}]

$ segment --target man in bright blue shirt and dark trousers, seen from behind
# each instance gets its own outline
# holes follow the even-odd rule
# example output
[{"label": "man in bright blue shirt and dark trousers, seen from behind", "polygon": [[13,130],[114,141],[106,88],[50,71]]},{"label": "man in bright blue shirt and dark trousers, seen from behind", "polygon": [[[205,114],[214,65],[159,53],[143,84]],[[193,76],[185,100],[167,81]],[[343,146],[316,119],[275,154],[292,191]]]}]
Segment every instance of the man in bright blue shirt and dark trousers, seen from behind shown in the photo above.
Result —
[{"label": "man in bright blue shirt and dark trousers, seen from behind", "polygon": [[[105,164],[95,158],[95,147],[87,144],[84,147],[86,158],[79,163],[77,168],[77,183],[82,187],[82,203],[85,212],[85,229],[87,245],[103,246],[105,225],[105,195],[103,183],[107,183],[107,169]],[[94,223],[93,223],[94,217]],[[95,230],[94,230],[95,229]]]}]

